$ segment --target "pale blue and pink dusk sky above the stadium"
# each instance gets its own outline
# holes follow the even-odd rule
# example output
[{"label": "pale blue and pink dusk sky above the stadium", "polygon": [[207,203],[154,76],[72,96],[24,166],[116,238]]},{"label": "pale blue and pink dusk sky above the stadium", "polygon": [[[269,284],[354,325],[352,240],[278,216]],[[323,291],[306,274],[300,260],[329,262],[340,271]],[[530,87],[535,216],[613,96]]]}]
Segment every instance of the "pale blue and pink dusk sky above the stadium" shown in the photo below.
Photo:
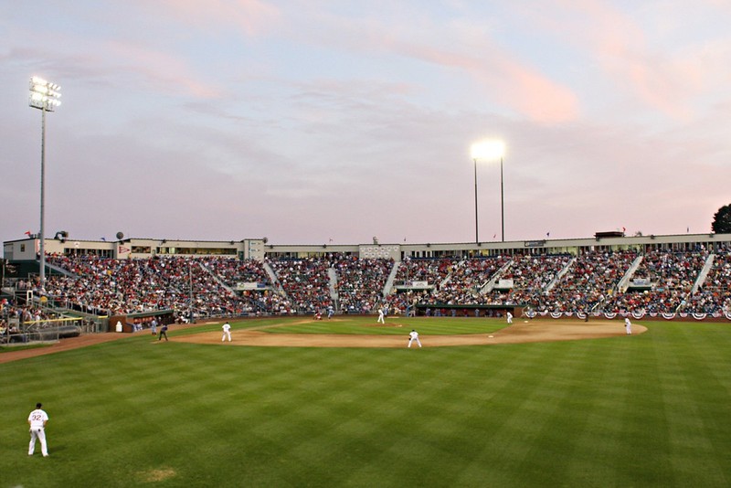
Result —
[{"label": "pale blue and pink dusk sky above the stadium", "polygon": [[729,25],[726,0],[0,0],[0,240],[40,228],[32,76],[62,93],[47,238],[473,242],[475,194],[482,242],[710,232]]}]

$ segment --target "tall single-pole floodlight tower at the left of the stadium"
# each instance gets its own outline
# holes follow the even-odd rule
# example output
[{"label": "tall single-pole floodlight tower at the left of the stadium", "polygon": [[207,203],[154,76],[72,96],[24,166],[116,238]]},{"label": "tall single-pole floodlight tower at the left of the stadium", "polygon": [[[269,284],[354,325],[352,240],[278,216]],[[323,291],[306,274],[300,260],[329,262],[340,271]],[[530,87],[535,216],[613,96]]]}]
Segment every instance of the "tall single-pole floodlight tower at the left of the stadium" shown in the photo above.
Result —
[{"label": "tall single-pole floodlight tower at the left of the stadium", "polygon": [[30,100],[28,104],[41,111],[40,135],[40,289],[46,288],[46,112],[54,111],[61,101],[61,87],[56,83],[34,76],[30,79]]}]

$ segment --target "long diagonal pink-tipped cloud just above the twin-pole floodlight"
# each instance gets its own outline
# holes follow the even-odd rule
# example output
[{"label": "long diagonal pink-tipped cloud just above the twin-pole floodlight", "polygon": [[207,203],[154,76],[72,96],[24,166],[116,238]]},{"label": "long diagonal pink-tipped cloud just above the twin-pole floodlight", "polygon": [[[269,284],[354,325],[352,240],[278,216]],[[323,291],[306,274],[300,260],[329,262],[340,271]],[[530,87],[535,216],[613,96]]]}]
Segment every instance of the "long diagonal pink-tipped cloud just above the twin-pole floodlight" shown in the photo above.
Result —
[{"label": "long diagonal pink-tipped cloud just above the twin-pole floodlight", "polygon": [[[579,116],[573,91],[496,46],[484,29],[473,24],[436,25],[429,19],[409,18],[411,24],[403,27],[367,17],[354,21],[322,13],[315,21],[323,26],[315,36],[323,45],[412,58],[461,71],[480,85],[484,100],[505,105],[532,121],[570,122]],[[312,38],[305,40],[311,42]],[[453,48],[441,48],[445,45]]]}]

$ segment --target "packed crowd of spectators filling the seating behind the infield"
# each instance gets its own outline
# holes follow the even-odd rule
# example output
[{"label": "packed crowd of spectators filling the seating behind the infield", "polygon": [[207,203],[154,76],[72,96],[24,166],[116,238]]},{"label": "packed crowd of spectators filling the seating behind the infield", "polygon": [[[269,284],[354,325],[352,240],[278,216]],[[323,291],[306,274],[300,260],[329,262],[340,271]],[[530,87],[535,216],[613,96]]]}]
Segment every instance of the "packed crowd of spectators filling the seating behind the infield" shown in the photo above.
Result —
[{"label": "packed crowd of spectators filling the seating behind the infield", "polygon": [[[382,307],[409,313],[416,305],[437,310],[439,305],[504,304],[549,312],[731,312],[728,249],[713,254],[706,249],[526,253],[397,263],[345,255],[264,262],[54,255],[48,263],[56,271],[44,291],[33,280],[18,281],[16,288],[98,314],[175,310],[205,317],[323,313],[331,307],[341,313],[375,313]],[[392,273],[393,286],[388,282]],[[635,286],[638,282],[643,286]]]}]

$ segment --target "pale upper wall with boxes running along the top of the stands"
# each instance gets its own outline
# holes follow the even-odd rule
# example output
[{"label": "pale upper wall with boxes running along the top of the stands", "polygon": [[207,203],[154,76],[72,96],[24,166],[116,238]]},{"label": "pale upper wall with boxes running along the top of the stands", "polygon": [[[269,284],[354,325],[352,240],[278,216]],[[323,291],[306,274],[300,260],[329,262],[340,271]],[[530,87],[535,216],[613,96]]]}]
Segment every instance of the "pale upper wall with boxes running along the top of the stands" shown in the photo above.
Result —
[{"label": "pale upper wall with boxes running along the top of the stands", "polygon": [[[584,239],[538,239],[505,242],[422,243],[404,244],[270,244],[267,239],[240,239],[228,241],[182,239],[123,239],[104,240],[46,239],[48,254],[93,255],[102,258],[150,258],[153,256],[225,256],[241,260],[272,258],[310,258],[328,254],[357,256],[359,258],[480,258],[514,254],[571,254],[597,250],[635,251],[692,250],[704,247],[715,250],[731,248],[731,234],[680,234],[665,236],[620,236]],[[38,239],[5,241],[4,257],[9,261],[37,260]]]}]

